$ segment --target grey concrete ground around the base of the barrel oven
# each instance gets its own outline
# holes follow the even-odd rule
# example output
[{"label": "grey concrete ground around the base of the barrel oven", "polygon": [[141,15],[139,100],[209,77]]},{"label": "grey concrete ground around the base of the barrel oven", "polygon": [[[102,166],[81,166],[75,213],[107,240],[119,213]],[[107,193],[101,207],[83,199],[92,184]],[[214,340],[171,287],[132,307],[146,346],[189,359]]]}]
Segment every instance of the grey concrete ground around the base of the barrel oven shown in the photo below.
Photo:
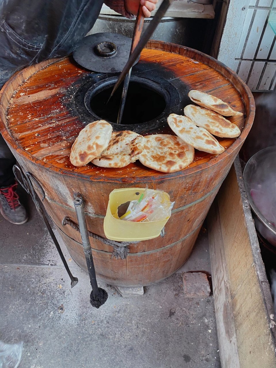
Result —
[{"label": "grey concrete ground around the base of the barrel oven", "polygon": [[184,266],[143,296],[125,299],[99,283],[108,299],[96,309],[88,274],[62,245],[79,279],[71,289],[31,199],[24,199],[28,223],[0,215],[0,340],[24,342],[20,368],[220,367],[213,298],[183,291],[183,272],[210,272],[205,231]]}]

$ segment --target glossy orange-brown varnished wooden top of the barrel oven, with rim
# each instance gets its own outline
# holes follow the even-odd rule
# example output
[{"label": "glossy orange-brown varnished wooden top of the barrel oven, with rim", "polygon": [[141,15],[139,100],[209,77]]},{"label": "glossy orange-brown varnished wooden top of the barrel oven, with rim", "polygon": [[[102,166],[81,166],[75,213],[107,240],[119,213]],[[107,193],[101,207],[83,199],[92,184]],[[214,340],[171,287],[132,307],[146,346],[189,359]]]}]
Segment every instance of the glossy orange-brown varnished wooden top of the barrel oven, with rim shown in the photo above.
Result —
[{"label": "glossy orange-brown varnished wooden top of the barrel oven, with rim", "polygon": [[[157,49],[160,47],[162,50]],[[252,125],[254,100],[250,91],[235,74],[205,54],[183,46],[156,41],[149,42],[148,48],[141,54],[139,63],[150,64],[152,70],[160,70],[162,67],[163,78],[167,75],[167,79],[171,79],[173,73],[173,78],[183,80],[190,89],[212,93],[229,102],[238,111],[244,112],[247,116],[246,121],[243,117],[230,118],[244,131],[236,141],[219,139],[220,144],[227,150],[215,160],[225,158],[240,146]],[[67,92],[70,91],[72,84],[88,73],[68,58],[54,61],[49,65],[43,62],[19,72],[3,89],[4,96],[2,95],[0,104],[1,132],[4,138],[28,159],[35,162],[40,160],[40,165],[55,171],[82,177],[89,176],[90,180],[112,180],[112,178],[118,180],[127,178],[130,174],[135,176],[137,181],[143,181],[149,176],[155,177],[155,180],[162,180],[166,177],[182,176],[213,163],[214,156],[196,151],[194,162],[187,169],[174,174],[163,174],[148,169],[138,162],[120,170],[100,168],[91,163],[84,167],[74,167],[69,161],[70,149],[84,123],[80,116],[72,114],[64,97],[68,96]],[[24,78],[26,80],[22,81]],[[73,93],[74,90],[71,96]],[[168,130],[169,128],[166,128],[166,132]]]}]

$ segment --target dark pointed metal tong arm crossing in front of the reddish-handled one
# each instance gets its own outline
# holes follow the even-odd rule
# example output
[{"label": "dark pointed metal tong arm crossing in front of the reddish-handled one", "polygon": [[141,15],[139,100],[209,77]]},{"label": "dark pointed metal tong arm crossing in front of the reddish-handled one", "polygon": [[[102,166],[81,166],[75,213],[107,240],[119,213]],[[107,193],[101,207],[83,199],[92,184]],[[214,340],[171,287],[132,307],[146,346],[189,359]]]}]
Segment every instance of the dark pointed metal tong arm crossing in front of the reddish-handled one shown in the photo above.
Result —
[{"label": "dark pointed metal tong arm crossing in front of the reddish-handled one", "polygon": [[[162,4],[160,5],[159,9],[157,10],[155,16],[152,18],[152,20],[149,23],[148,27],[146,28],[144,34],[142,35],[141,39],[139,40],[138,45],[135,47],[135,49],[133,50],[132,54],[130,55],[127,63],[125,64],[123,71],[121,72],[116,84],[113,87],[110,98],[114,95],[116,89],[121,84],[121,82],[123,82],[125,76],[129,72],[130,68],[132,68],[135,60],[137,59],[137,57],[139,56],[141,51],[144,49],[144,46],[148,42],[148,40],[151,37],[152,33],[155,31],[155,29],[158,26],[160,20],[163,18],[163,16],[165,15],[166,11],[168,10],[168,8],[169,8],[169,6],[171,5],[172,2],[173,2],[173,0],[163,0],[162,1]],[[110,100],[110,98],[109,98],[109,100]],[[107,103],[108,103],[108,101],[107,101]]]}]

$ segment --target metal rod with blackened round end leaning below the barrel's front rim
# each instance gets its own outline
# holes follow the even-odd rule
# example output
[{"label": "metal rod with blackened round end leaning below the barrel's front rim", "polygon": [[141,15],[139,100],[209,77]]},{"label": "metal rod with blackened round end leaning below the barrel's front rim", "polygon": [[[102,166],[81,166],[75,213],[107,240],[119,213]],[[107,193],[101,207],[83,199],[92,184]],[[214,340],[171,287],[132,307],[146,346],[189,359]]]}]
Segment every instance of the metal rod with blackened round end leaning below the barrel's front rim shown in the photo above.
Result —
[{"label": "metal rod with blackened round end leaning below the barrel's front rim", "polygon": [[75,196],[74,206],[79,223],[79,232],[81,233],[82,246],[84,248],[84,255],[89,273],[90,283],[92,286],[92,291],[90,294],[90,303],[93,307],[99,308],[106,302],[108,295],[104,289],[98,287],[98,283],[96,280],[96,272],[84,213],[84,201],[81,195]]}]

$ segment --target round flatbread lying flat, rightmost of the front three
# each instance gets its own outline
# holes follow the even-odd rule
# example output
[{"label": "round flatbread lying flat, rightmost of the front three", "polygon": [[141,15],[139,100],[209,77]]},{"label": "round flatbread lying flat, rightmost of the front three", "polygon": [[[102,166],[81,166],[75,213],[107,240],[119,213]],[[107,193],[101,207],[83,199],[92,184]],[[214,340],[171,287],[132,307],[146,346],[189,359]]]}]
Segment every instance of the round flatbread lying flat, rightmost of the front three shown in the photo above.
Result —
[{"label": "round flatbread lying flat, rightmost of the front three", "polygon": [[185,169],[194,160],[194,148],[175,135],[154,134],[144,138],[144,151],[139,161],[146,167],[174,173]]}]

